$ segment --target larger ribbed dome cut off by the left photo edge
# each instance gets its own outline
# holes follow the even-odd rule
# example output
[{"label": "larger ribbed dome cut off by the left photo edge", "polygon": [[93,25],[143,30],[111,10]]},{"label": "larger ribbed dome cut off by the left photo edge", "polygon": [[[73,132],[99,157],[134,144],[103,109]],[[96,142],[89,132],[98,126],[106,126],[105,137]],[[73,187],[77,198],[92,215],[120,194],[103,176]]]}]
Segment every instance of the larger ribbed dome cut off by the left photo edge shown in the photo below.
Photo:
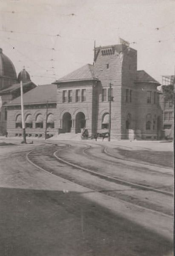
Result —
[{"label": "larger ribbed dome cut off by the left photo edge", "polygon": [[3,54],[0,48],[0,76],[11,79],[17,79],[16,70],[11,60]]}]

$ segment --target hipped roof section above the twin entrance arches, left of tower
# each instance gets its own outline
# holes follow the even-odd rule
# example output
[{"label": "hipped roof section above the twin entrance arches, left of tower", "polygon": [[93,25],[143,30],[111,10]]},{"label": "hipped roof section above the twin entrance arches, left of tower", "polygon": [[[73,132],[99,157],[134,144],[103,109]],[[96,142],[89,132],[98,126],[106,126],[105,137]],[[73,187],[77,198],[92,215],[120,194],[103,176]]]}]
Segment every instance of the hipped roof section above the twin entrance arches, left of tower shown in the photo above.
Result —
[{"label": "hipped roof section above the twin entrance arches, left of tower", "polygon": [[95,74],[94,74],[94,66],[91,64],[86,64],[83,67],[80,67],[79,69],[73,71],[72,73],[69,73],[66,76],[63,76],[62,78],[58,79],[54,83],[61,83],[61,82],[67,82],[67,81],[84,81],[84,80],[94,80]]}]

